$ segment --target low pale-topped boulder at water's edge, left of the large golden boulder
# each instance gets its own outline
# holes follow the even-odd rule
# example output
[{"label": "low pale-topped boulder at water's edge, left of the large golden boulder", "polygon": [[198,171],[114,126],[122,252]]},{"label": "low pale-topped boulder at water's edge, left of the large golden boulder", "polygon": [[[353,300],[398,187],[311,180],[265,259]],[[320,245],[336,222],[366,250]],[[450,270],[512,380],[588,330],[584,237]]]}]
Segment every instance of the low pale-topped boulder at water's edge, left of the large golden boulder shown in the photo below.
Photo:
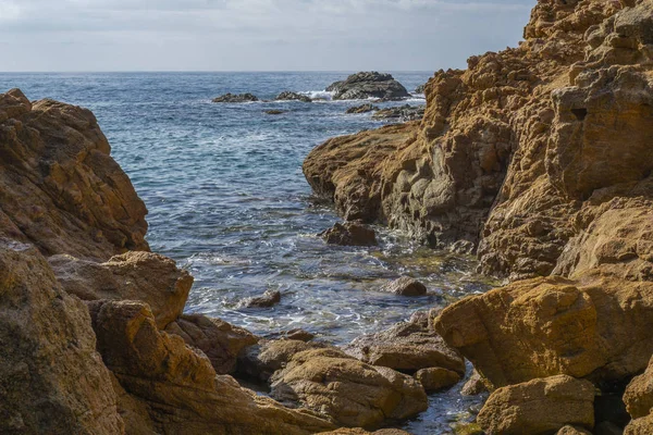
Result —
[{"label": "low pale-topped boulder at water's edge, left of the large golden boulder", "polygon": [[372,365],[415,372],[443,368],[465,374],[465,361],[442,337],[415,323],[398,323],[387,331],[361,335],[345,351]]}]

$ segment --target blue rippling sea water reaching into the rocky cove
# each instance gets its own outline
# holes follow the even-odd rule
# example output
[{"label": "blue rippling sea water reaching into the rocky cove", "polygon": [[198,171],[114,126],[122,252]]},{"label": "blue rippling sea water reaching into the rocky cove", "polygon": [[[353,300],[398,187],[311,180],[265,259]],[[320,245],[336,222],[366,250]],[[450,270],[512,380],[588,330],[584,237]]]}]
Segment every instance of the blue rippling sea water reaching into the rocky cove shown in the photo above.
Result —
[{"label": "blue rippling sea water reaching into the rocky cove", "polygon": [[[273,99],[283,90],[329,99],[323,89],[347,74],[0,74],[0,91],[20,87],[33,100],[94,111],[112,156],[147,204],[152,250],[195,276],[188,312],[261,335],[301,327],[341,345],[486,289],[473,259],[432,251],[401,233],[377,228],[374,248],[328,246],[316,236],[338,217],[311,196],[301,162],[330,137],[385,123],[345,114],[361,101],[211,102],[225,92]],[[393,74],[409,90],[431,76]],[[408,102],[424,103],[418,95]],[[264,113],[271,109],[287,112]],[[428,296],[377,291],[404,274],[427,284]],[[280,304],[239,308],[268,289],[281,291]],[[403,427],[416,435],[448,433],[479,401],[461,398],[459,388],[432,395],[429,411]]]}]

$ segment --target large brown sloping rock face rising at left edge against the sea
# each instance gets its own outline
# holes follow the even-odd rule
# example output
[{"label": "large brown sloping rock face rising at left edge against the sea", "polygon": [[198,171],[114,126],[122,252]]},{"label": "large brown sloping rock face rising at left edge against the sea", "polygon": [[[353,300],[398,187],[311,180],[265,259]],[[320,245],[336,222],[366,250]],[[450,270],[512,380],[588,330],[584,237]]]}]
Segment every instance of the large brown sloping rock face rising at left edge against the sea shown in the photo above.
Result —
[{"label": "large brown sloping rock face rising at left edge against the sea", "polygon": [[109,152],[90,111],[0,95],[0,235],[47,256],[149,250],[145,204]]}]

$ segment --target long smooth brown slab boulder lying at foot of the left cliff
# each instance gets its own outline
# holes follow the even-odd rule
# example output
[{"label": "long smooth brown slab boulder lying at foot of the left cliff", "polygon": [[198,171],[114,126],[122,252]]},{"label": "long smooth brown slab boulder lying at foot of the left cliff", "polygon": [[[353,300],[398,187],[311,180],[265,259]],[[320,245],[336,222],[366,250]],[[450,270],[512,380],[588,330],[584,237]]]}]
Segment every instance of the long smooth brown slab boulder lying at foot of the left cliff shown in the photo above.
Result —
[{"label": "long smooth brown slab boulder lying at foot of the left cliff", "polygon": [[48,259],[64,290],[82,300],[147,302],[163,330],[184,311],[193,276],[173,260],[151,252],[126,252],[103,263],[59,254]]}]

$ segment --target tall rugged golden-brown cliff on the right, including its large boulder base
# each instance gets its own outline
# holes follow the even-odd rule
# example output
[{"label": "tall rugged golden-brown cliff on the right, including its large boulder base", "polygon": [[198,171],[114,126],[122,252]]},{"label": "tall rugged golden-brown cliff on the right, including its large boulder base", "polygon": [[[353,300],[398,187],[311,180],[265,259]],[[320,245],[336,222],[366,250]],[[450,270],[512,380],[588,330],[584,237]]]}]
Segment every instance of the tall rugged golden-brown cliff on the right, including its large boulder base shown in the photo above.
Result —
[{"label": "tall rugged golden-brown cliff on the right, including its large boulder base", "polygon": [[[626,383],[653,353],[652,29],[651,0],[540,0],[518,48],[429,80],[420,124],[305,162],[346,219],[475,252],[506,278],[434,322],[492,388]],[[653,431],[644,411],[631,433]],[[523,433],[490,413],[490,433]]]}]

